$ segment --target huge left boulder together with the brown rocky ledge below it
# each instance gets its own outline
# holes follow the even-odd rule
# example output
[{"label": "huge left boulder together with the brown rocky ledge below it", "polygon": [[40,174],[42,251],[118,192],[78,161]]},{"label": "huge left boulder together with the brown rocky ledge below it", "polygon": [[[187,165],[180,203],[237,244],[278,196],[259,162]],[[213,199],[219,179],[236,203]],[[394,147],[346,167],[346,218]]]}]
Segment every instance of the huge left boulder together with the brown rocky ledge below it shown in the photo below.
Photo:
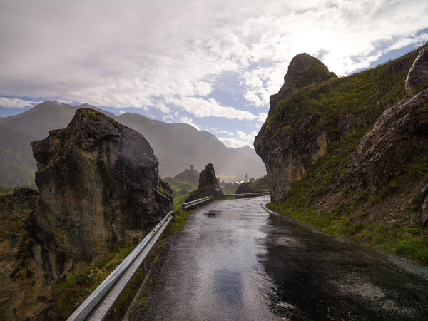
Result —
[{"label": "huge left boulder together with the brown rocky ledge below it", "polygon": [[53,282],[118,240],[143,236],[173,208],[146,139],[103,113],[81,108],[66,129],[32,145],[39,193],[0,197],[4,320],[33,320],[49,309]]}]

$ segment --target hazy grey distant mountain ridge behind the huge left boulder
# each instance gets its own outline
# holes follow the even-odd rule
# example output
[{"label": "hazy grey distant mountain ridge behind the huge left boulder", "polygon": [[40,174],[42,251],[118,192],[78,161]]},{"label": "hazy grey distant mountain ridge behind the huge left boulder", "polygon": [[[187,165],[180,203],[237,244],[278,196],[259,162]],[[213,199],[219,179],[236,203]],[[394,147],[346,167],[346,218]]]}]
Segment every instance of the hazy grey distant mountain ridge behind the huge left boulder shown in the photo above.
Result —
[{"label": "hazy grey distant mountain ridge behind the huge left boulder", "polygon": [[[88,104],[71,106],[58,101],[45,101],[18,115],[1,118],[0,126],[23,131],[34,136],[34,140],[42,139],[48,136],[51,130],[66,128],[76,110],[88,106],[145,136],[160,161],[159,172],[162,177],[173,177],[192,164],[196,169],[202,170],[207,163],[213,163],[218,173],[225,175],[238,175],[243,178],[245,173],[248,173],[258,178],[265,174],[263,164],[227,148],[208,131],[198,131],[186,123],[163,123],[137,113],[115,116]],[[31,153],[30,146],[27,153]],[[0,177],[0,181],[3,183],[6,180]],[[24,184],[26,183],[21,180],[15,184],[8,183],[9,186]]]}]

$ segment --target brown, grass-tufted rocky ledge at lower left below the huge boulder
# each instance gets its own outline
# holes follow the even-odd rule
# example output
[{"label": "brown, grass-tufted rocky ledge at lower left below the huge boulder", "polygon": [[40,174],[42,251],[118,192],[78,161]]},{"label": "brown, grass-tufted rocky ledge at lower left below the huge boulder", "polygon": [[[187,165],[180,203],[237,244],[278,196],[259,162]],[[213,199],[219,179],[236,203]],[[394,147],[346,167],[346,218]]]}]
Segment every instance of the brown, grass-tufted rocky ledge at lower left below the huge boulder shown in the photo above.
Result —
[{"label": "brown, grass-tufted rocky ledge at lower left below the huge boulder", "polygon": [[39,320],[35,316],[49,305],[52,282],[84,266],[29,236],[24,224],[37,210],[37,198],[29,188],[0,197],[1,320]]}]

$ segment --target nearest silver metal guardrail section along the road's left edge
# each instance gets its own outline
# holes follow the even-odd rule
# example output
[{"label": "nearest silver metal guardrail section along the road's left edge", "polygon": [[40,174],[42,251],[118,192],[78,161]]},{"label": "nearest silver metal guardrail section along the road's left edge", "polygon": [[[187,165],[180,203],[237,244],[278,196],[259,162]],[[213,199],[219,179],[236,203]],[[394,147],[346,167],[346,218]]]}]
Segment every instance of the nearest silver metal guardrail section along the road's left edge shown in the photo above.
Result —
[{"label": "nearest silver metal guardrail section along the road's left edge", "polygon": [[67,321],[103,320],[125,289],[128,282],[143,263],[146,276],[150,263],[149,256],[153,245],[173,219],[173,210],[151,230],[146,238],[116,267],[95,291],[77,308]]}]

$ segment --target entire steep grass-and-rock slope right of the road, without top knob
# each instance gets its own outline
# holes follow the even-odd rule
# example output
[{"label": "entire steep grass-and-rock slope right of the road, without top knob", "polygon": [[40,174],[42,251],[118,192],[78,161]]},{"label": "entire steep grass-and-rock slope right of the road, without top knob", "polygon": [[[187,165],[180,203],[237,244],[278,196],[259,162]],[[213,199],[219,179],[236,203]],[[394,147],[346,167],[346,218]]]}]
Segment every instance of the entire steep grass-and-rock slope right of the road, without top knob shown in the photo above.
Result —
[{"label": "entire steep grass-and-rock slope right of the road, without top knob", "polygon": [[425,46],[277,103],[255,140],[270,208],[428,264],[427,56]]}]

